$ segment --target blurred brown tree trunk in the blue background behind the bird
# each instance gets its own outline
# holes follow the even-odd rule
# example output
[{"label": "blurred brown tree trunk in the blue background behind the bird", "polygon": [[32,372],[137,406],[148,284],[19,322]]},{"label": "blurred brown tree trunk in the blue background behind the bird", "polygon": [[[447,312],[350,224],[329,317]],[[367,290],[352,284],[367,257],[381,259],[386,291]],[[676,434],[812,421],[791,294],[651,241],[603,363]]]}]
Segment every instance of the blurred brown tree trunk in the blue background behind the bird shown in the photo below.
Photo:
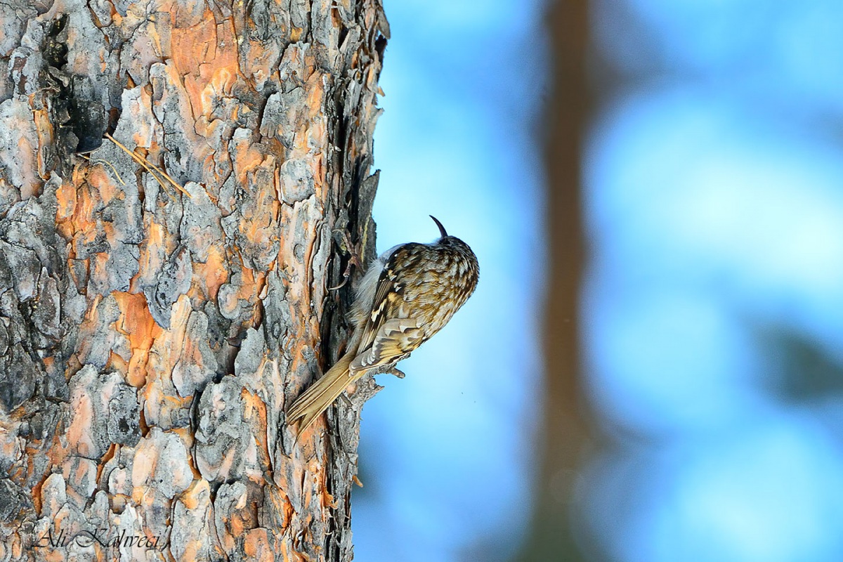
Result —
[{"label": "blurred brown tree trunk in the blue background behind the bird", "polygon": [[588,2],[564,0],[548,8],[551,72],[547,99],[547,224],[550,241],[545,312],[543,455],[533,521],[518,560],[583,558],[577,524],[576,477],[588,453],[581,388],[580,281],[584,267],[582,147],[588,123]]}]

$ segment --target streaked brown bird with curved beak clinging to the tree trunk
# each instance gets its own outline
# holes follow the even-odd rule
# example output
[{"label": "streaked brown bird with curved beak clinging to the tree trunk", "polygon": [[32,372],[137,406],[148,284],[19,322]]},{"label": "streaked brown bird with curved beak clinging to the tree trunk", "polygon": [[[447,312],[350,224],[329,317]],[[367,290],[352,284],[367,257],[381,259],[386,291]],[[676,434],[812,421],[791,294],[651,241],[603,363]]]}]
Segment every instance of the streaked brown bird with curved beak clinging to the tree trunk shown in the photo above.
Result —
[{"label": "streaked brown bird with curved beak clinging to the tree trunk", "polygon": [[287,423],[301,420],[299,435],[350,383],[367,372],[395,372],[395,364],[448,324],[474,292],[477,256],[431,218],[441,238],[400,244],[369,266],[352,307],[348,351],[287,412]]}]

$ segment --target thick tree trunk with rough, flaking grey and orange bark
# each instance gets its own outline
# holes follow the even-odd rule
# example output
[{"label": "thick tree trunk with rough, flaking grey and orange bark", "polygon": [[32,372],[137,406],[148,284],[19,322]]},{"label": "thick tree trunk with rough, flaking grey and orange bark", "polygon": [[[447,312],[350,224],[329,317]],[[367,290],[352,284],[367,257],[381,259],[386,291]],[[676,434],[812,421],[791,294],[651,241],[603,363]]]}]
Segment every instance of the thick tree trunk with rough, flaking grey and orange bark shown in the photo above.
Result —
[{"label": "thick tree trunk with rough, flaking grey and orange bark", "polygon": [[0,29],[0,560],[351,559],[376,387],[295,447],[283,410],[347,337],[341,232],[373,254],[379,0]]}]

